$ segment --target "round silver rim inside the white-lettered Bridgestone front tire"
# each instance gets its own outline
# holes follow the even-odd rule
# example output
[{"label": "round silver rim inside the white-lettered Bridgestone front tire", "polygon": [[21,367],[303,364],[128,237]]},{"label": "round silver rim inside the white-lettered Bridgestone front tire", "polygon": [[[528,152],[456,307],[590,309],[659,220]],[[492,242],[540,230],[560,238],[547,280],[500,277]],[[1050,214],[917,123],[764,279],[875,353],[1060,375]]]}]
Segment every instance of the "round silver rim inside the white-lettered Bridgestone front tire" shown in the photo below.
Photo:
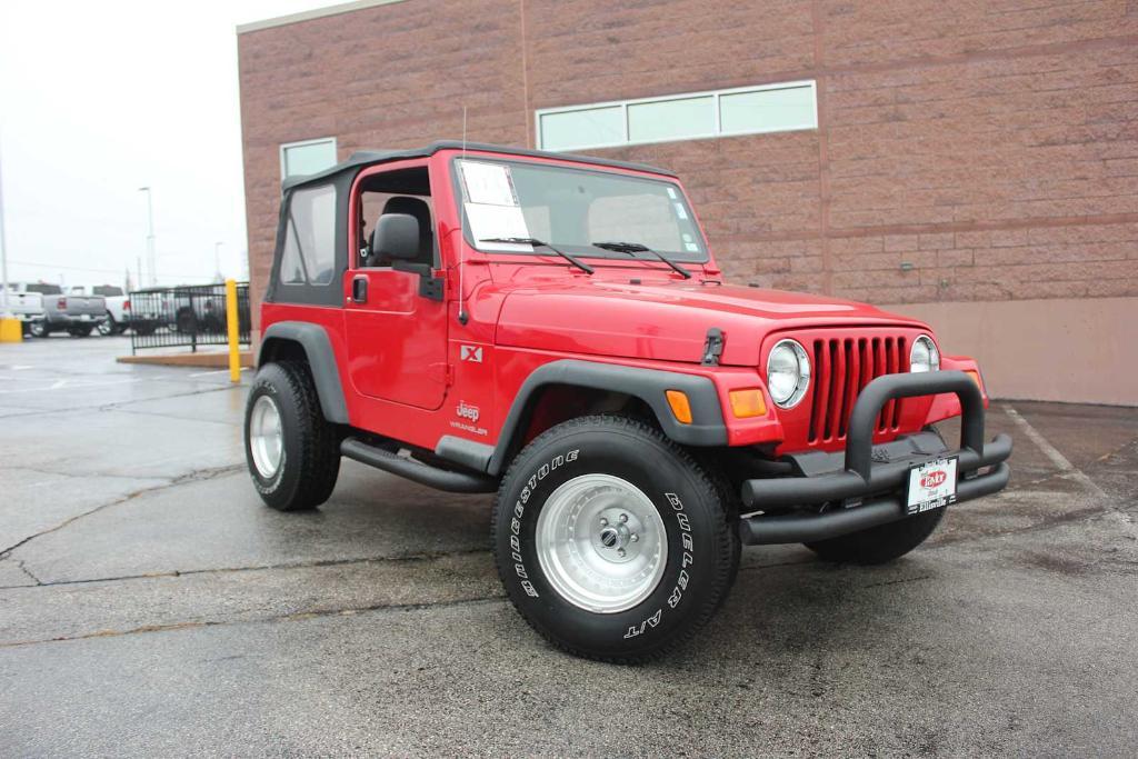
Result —
[{"label": "round silver rim inside the white-lettered Bridgestone front tire", "polygon": [[668,563],[660,512],[643,490],[611,475],[582,475],[558,487],[537,518],[536,546],[553,589],[602,614],[644,601]]}]

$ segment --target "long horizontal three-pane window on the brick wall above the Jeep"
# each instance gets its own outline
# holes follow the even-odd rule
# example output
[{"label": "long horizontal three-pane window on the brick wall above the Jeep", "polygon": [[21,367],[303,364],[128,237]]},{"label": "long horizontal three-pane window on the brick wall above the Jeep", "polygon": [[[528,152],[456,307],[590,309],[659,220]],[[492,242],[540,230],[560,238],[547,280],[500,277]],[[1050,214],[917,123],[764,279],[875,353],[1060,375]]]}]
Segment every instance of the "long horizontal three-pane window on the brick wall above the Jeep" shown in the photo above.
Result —
[{"label": "long horizontal three-pane window on the brick wall above the Jeep", "polygon": [[579,150],[817,127],[815,83],[803,81],[544,108],[537,145]]}]

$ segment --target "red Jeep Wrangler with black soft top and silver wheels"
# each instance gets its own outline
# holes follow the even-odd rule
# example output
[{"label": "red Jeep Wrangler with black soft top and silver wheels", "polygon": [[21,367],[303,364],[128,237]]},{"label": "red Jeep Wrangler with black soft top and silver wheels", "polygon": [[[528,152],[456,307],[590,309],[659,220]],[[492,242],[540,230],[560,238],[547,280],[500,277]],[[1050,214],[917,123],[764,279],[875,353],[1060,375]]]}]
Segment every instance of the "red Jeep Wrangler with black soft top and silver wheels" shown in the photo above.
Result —
[{"label": "red Jeep Wrangler with black soft top and silver wheels", "polygon": [[872,306],[725,284],[650,166],[437,142],[289,180],[261,323],[265,503],[323,503],[341,455],[496,492],[511,601],[585,657],[692,637],[741,544],[885,562],[1008,479],[974,361]]}]

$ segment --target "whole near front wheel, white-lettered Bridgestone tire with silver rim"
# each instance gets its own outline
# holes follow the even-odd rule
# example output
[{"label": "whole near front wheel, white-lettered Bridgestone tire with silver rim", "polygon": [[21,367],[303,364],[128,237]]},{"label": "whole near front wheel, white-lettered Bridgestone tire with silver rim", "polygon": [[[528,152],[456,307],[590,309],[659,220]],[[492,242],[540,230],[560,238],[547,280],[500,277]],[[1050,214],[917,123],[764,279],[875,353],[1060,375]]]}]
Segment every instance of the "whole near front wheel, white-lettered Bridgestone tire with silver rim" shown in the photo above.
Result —
[{"label": "whole near front wheel, white-lettered Bridgestone tire with silver rim", "polygon": [[711,618],[739,537],[696,461],[658,429],[586,416],[537,437],[502,480],[492,534],[518,611],[555,646],[659,658]]}]

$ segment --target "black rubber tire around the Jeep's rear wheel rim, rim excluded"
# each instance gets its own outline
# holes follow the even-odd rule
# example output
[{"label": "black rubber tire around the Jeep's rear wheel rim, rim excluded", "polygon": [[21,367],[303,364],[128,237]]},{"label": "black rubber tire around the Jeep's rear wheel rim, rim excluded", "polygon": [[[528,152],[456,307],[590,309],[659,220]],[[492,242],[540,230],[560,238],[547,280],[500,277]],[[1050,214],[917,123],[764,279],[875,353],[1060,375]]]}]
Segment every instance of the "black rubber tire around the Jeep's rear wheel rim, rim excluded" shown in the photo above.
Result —
[{"label": "black rubber tire around the Jeep's rear wheel rim, rim excluded", "polygon": [[[275,402],[283,432],[283,457],[271,479],[257,471],[249,449],[253,406],[263,395]],[[245,407],[245,459],[262,501],[278,511],[315,509],[328,501],[340,472],[339,444],[339,432],[320,410],[307,364],[282,361],[257,371]]]}]

